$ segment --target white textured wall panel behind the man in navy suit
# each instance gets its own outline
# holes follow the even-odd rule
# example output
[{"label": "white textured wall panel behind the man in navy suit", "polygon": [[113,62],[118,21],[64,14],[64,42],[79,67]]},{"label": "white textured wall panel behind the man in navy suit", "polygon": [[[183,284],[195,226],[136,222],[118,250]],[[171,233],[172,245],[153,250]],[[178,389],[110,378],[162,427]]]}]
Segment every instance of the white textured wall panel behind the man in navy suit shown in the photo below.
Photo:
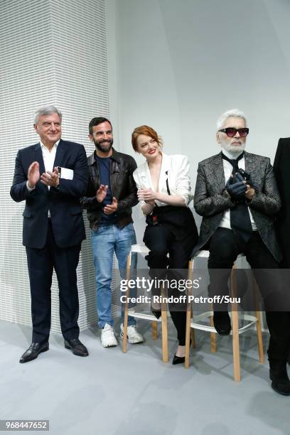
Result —
[{"label": "white textured wall panel behind the man in navy suit", "polygon": [[[30,324],[24,203],[14,203],[9,195],[16,153],[38,142],[33,112],[43,104],[55,104],[63,112],[63,139],[80,142],[92,153],[88,123],[97,114],[109,115],[106,21],[104,0],[9,0],[0,1],[0,8],[0,318]],[[88,237],[77,268],[82,329],[96,321],[85,222]],[[55,276],[52,307],[52,331],[60,331]]]}]

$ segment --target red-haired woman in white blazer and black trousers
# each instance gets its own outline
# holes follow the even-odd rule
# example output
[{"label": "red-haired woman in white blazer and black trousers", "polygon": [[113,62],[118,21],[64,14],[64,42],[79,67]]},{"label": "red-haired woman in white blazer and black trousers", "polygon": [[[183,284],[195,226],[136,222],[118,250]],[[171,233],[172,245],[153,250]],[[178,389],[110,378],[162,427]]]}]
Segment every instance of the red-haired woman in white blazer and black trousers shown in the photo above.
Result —
[{"label": "red-haired woman in white blazer and black trousers", "polygon": [[[146,215],[143,240],[150,249],[146,258],[150,269],[159,269],[159,272],[154,270],[152,273],[156,276],[151,277],[164,278],[168,268],[188,268],[190,254],[198,240],[195,220],[188,208],[189,162],[181,154],[164,154],[161,138],[149,126],[134,129],[131,141],[133,149],[146,159],[133,173],[141,210]],[[184,274],[182,276],[184,278]],[[181,295],[177,290],[173,296]],[[153,313],[159,318],[160,308],[153,307]],[[185,304],[179,304],[178,308],[169,306],[179,342],[173,364],[184,362],[186,344]]]}]

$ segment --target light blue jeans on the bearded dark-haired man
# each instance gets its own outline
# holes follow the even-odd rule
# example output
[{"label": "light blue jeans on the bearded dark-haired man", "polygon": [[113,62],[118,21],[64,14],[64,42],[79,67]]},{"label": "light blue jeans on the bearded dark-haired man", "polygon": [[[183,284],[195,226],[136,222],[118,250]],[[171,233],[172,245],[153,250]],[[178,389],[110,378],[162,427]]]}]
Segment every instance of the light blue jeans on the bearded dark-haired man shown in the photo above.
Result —
[{"label": "light blue jeans on the bearded dark-haired man", "polygon": [[[117,225],[104,225],[91,232],[92,253],[94,255],[97,316],[98,325],[103,328],[106,323],[113,326],[112,318],[112,267],[114,252],[119,264],[122,279],[126,279],[127,256],[131,245],[136,243],[135,230],[132,223],[124,228]],[[131,267],[136,269],[136,254],[132,255]],[[124,321],[124,306],[122,306],[122,321]],[[135,325],[134,317],[128,317],[128,326]]]}]

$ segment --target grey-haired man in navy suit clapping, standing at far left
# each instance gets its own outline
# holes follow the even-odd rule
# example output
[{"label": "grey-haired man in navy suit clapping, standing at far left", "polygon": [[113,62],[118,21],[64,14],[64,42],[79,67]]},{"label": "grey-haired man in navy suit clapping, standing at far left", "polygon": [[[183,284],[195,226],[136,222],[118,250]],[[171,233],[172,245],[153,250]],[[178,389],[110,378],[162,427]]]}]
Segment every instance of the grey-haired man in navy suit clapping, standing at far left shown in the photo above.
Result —
[{"label": "grey-haired man in navy suit clapping, standing at far left", "polygon": [[77,264],[85,239],[80,197],[87,188],[87,157],[80,144],[63,141],[61,112],[53,106],[35,113],[38,144],[18,151],[11,197],[25,200],[23,245],[31,286],[32,343],[20,363],[48,350],[53,268],[60,291],[60,326],[65,348],[87,356],[78,339]]}]

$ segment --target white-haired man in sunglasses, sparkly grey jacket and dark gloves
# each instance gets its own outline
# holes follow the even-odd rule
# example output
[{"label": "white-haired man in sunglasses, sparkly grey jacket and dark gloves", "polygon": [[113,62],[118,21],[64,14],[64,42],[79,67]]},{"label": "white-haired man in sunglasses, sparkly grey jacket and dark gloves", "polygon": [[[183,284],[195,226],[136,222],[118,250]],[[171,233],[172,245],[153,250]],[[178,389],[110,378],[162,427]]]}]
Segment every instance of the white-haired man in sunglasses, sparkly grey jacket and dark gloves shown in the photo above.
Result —
[{"label": "white-haired man in sunglasses, sparkly grey jacket and dark gloves", "polygon": [[[290,317],[285,311],[274,311],[277,306],[282,309],[282,285],[278,285],[279,274],[273,272],[279,269],[281,261],[274,231],[274,215],[281,202],[269,159],[244,151],[248,133],[245,115],[238,109],[225,112],[218,119],[216,137],[222,152],[198,165],[194,206],[203,221],[195,252],[201,247],[210,251],[211,295],[227,292],[232,265],[238,254],[245,254],[264,299],[272,387],[289,395],[286,358]],[[216,305],[214,310],[216,331],[229,334],[227,306]]]}]

